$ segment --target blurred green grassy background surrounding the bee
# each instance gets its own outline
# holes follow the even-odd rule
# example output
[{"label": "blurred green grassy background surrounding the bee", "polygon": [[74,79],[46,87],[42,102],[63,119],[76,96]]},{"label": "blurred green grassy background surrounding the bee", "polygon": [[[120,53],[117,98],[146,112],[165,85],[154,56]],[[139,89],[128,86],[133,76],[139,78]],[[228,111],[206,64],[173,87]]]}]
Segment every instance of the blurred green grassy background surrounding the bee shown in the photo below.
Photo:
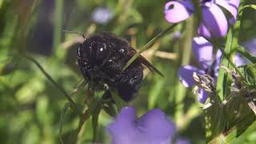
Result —
[{"label": "blurred green grassy background surrounding the bee", "polygon": [[[76,64],[76,50],[82,37],[62,30],[72,30],[86,37],[110,31],[139,49],[170,26],[163,13],[166,2],[0,0],[0,143],[60,143],[60,137],[68,143],[78,127],[78,116],[72,110],[62,114],[67,102],[63,94],[23,54],[35,58],[58,85],[72,94],[83,79]],[[246,2],[255,4],[254,0]],[[106,22],[94,18],[98,8],[110,12]],[[255,38],[255,15],[255,10],[244,11],[240,42]],[[200,104],[191,89],[178,82],[177,76],[179,66],[197,65],[190,53],[191,39],[195,35],[193,30],[196,30],[194,23],[194,18],[190,18],[179,24],[143,53],[165,77],[145,70],[142,88],[130,105],[138,110],[138,115],[152,108],[164,110],[176,123],[179,135],[191,143],[204,143]],[[85,97],[86,88],[72,94],[79,106],[84,105]],[[106,126],[112,120],[102,110],[97,142],[110,143]],[[92,138],[89,120],[79,141],[89,143]],[[246,133],[237,142],[254,143],[256,133]]]}]

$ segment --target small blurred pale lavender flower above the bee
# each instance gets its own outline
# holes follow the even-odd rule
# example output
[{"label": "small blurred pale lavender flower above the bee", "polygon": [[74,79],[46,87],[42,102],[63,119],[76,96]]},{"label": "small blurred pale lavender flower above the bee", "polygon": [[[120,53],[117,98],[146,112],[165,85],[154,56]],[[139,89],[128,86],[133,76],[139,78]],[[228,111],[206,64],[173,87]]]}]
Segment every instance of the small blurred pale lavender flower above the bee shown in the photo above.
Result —
[{"label": "small blurred pale lavender flower above the bee", "polygon": [[105,24],[113,18],[114,14],[107,8],[97,8],[92,13],[92,19],[94,22]]}]

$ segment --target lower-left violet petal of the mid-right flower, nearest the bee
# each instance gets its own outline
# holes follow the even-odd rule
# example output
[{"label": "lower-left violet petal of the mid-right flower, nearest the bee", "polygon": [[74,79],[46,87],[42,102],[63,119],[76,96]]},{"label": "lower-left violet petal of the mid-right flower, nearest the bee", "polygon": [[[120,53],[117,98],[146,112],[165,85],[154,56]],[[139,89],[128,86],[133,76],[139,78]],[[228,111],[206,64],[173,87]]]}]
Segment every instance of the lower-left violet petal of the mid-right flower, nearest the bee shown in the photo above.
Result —
[{"label": "lower-left violet petal of the mid-right flower, nearest the bee", "polygon": [[179,81],[186,87],[194,86],[193,73],[196,72],[198,74],[204,74],[203,70],[199,70],[194,66],[181,66],[178,69],[178,77]]}]

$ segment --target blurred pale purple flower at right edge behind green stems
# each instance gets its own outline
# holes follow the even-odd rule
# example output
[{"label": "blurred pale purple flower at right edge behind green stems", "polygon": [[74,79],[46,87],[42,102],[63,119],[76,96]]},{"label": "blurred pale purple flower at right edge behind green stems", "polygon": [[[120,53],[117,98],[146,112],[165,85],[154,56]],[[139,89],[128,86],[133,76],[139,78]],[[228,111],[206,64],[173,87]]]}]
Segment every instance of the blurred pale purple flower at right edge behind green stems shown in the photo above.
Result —
[{"label": "blurred pale purple flower at right edge behind green stems", "polygon": [[[242,46],[244,46],[246,50],[250,52],[250,54],[253,54],[254,56],[256,56],[256,38],[253,38],[247,42],[244,42]],[[242,57],[241,54],[237,53],[234,56],[234,63],[236,66],[242,66],[242,65],[248,64],[249,61],[246,58]]]}]

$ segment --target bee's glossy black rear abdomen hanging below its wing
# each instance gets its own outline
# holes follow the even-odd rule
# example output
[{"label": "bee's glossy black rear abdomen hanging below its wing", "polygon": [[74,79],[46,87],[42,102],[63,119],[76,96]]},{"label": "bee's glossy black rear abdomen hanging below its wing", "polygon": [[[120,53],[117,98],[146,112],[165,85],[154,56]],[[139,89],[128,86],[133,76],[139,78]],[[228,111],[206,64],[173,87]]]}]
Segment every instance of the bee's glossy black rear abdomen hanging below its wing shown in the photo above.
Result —
[{"label": "bee's glossy black rear abdomen hanging below its wing", "polygon": [[138,92],[138,89],[142,85],[143,68],[142,65],[130,66],[124,74],[115,83],[115,87],[118,90],[118,94],[121,98],[129,102],[134,95]]}]

